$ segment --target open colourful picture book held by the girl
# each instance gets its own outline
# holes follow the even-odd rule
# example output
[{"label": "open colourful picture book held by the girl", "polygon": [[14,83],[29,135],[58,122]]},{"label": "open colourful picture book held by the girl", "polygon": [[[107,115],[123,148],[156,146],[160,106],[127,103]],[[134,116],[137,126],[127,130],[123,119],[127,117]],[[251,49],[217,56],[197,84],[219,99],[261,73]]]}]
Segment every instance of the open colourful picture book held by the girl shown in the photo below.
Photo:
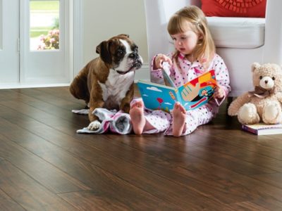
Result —
[{"label": "open colourful picture book held by the girl", "polygon": [[174,87],[165,71],[163,71],[163,75],[166,84],[171,84],[173,87],[152,82],[137,82],[146,108],[164,110],[169,113],[173,109],[174,103],[178,101],[185,110],[192,110],[207,103],[214,94],[216,87],[214,70],[204,72],[180,87]]}]

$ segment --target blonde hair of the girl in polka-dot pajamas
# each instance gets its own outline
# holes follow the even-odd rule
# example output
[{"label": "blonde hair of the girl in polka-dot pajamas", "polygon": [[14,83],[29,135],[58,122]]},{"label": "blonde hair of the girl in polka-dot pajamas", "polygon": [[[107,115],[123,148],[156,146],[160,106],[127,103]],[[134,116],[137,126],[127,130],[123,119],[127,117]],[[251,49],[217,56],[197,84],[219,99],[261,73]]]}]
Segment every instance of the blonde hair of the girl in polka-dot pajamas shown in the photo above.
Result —
[{"label": "blonde hair of the girl in polka-dot pajamas", "polygon": [[[205,69],[209,67],[209,63],[214,58],[215,46],[212,34],[207,26],[207,18],[200,8],[197,6],[185,6],[180,9],[168,22],[168,33],[179,34],[192,30],[200,39],[197,42],[192,58],[199,60]],[[177,58],[179,51],[173,54],[173,60]]]}]

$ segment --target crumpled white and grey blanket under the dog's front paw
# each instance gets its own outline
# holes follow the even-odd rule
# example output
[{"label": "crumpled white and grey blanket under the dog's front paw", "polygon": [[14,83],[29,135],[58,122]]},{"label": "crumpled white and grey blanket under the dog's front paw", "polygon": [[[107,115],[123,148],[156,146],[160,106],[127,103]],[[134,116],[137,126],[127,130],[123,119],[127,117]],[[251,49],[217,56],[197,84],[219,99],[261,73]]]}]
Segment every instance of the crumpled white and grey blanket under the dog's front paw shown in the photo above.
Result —
[{"label": "crumpled white and grey blanket under the dog's front paw", "polygon": [[[89,110],[72,110],[72,112],[80,115],[88,115]],[[78,134],[103,134],[108,130],[117,134],[130,134],[132,130],[130,115],[128,113],[123,113],[121,111],[116,112],[116,110],[107,110],[106,108],[96,108],[93,111],[93,114],[99,117],[101,122],[100,127],[96,130],[90,130],[87,129],[87,127],[84,127],[76,131]]]}]

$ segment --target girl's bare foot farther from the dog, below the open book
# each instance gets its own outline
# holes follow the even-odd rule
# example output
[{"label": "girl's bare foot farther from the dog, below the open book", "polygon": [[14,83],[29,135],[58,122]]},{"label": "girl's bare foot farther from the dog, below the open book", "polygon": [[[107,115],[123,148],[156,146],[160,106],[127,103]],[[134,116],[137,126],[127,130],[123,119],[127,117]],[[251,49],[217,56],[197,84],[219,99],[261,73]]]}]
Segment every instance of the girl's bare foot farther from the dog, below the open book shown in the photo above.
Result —
[{"label": "girl's bare foot farther from the dog, below the open book", "polygon": [[172,111],[172,134],[173,136],[181,136],[185,127],[185,114],[186,110],[180,103],[176,102]]}]

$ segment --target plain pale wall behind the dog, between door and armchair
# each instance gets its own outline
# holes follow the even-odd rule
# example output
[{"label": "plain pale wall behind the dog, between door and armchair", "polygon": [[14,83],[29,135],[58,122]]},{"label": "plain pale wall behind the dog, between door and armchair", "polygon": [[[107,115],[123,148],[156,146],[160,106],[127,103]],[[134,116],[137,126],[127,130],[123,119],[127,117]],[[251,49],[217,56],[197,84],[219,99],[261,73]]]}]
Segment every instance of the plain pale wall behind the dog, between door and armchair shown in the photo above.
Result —
[{"label": "plain pale wall behind the dog, between door and armchair", "polygon": [[[95,50],[101,41],[116,34],[129,34],[139,46],[140,55],[145,63],[143,67],[147,68],[148,51],[143,0],[83,0],[82,18],[83,65],[98,56]],[[143,70],[137,70],[137,76],[142,73],[141,71]]]}]

